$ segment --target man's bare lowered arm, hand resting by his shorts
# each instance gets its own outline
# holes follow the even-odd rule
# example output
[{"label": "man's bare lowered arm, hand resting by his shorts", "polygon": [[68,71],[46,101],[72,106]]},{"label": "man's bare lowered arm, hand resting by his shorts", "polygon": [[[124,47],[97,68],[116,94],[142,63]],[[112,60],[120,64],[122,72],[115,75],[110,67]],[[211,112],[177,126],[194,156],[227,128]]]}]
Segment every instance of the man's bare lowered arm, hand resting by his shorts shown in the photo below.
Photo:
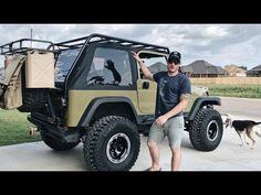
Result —
[{"label": "man's bare lowered arm, hand resting by his shorts", "polygon": [[156,123],[158,126],[163,126],[170,117],[176,116],[180,111],[184,111],[188,106],[189,96],[190,96],[189,94],[182,94],[179,104],[171,110],[169,110],[167,113],[158,117],[156,119]]}]

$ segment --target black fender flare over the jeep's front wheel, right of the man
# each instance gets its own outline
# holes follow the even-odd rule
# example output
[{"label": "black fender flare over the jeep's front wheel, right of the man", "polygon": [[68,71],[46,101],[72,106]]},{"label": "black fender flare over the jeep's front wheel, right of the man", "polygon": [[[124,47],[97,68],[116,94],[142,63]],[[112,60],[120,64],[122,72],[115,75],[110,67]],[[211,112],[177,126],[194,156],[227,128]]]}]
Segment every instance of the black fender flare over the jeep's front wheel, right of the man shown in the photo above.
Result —
[{"label": "black fender flare over the jeep's front wheel, right of the man", "polygon": [[194,120],[196,113],[200,108],[207,105],[218,105],[221,106],[221,99],[219,97],[198,97],[188,113],[188,120]]}]

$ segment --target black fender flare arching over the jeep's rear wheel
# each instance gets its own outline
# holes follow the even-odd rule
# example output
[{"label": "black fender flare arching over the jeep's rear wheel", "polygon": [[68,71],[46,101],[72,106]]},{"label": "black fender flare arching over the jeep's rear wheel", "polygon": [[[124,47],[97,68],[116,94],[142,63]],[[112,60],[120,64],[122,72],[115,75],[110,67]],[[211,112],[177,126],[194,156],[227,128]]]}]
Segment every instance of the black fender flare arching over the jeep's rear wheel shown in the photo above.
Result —
[{"label": "black fender flare arching over the jeep's rear wheel", "polygon": [[138,116],[137,112],[133,106],[133,102],[130,101],[130,99],[126,98],[126,97],[97,97],[94,98],[87,106],[87,108],[85,109],[85,111],[83,112],[83,116],[79,122],[80,127],[87,127],[94,112],[96,111],[96,109],[105,104],[105,102],[125,102],[128,104],[130,106],[130,108],[133,109],[134,116],[136,118],[136,121],[138,120]]}]

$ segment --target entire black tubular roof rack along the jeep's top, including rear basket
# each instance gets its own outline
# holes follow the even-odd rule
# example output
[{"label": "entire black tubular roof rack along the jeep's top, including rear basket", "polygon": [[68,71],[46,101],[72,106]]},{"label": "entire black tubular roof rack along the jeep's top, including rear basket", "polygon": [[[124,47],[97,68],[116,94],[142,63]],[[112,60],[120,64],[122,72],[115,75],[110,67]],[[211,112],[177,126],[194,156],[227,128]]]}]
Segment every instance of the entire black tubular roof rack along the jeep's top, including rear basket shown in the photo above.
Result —
[{"label": "entire black tubular roof rack along the jeep's top, including rear basket", "polygon": [[[21,40],[1,45],[0,54],[4,55],[4,54],[24,53],[24,52],[33,51],[33,50],[43,51],[43,52],[58,52],[58,51],[63,51],[63,50],[81,48],[82,46],[85,46],[92,43],[113,43],[113,44],[118,44],[122,46],[132,47],[135,50],[152,50],[152,51],[158,51],[166,54],[169,53],[169,48],[166,46],[142,43],[137,41],[94,33],[88,36],[83,36],[83,37],[69,40],[69,41],[64,41],[60,43],[52,43],[50,41],[43,41],[43,40],[21,39]],[[32,44],[34,44],[33,47],[31,46]],[[45,44],[45,47],[44,48],[40,47],[41,44],[42,45]]]}]

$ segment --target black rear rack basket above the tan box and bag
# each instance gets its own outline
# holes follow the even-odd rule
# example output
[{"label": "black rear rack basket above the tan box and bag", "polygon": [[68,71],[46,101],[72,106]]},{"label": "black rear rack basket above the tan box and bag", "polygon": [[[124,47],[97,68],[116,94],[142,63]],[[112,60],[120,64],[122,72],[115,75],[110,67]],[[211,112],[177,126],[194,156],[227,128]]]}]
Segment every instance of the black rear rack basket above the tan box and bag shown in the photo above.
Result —
[{"label": "black rear rack basket above the tan box and bag", "polygon": [[[45,44],[45,48],[41,48],[40,45],[38,47],[32,47],[32,44]],[[7,43],[4,45],[0,46],[0,54],[1,55],[10,55],[10,54],[17,54],[17,53],[25,53],[28,51],[42,51],[42,52],[53,52],[54,51],[54,44],[50,41],[43,41],[43,40],[33,40],[33,39],[21,39],[17,40],[10,43]]]}]

